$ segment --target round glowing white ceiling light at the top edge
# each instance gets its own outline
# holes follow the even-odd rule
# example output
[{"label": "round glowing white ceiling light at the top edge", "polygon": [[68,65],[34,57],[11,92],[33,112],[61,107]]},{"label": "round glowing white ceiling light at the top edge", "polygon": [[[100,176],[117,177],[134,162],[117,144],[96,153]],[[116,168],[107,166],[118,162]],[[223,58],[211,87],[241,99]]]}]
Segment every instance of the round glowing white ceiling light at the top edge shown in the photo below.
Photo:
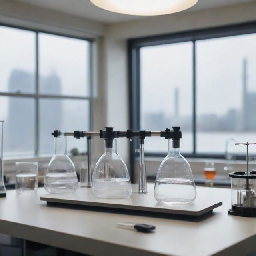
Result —
[{"label": "round glowing white ceiling light at the top edge", "polygon": [[163,15],[186,10],[198,0],[90,0],[94,5],[130,15]]}]

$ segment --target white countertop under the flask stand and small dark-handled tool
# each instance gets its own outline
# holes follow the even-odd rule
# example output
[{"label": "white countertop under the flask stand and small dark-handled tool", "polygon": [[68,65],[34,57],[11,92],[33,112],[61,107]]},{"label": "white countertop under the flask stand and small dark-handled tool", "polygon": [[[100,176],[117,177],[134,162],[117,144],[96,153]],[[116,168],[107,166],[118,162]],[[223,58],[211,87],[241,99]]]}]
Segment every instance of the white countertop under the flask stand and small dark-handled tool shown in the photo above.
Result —
[{"label": "white countertop under the flask stand and small dark-handled tool", "polygon": [[[255,250],[256,218],[228,215],[231,190],[197,187],[197,191],[223,200],[223,206],[200,221],[50,207],[40,201],[44,188],[38,195],[16,195],[11,190],[7,198],[0,198],[0,233],[96,256],[246,255]],[[156,231],[126,230],[116,222],[152,224]]]}]

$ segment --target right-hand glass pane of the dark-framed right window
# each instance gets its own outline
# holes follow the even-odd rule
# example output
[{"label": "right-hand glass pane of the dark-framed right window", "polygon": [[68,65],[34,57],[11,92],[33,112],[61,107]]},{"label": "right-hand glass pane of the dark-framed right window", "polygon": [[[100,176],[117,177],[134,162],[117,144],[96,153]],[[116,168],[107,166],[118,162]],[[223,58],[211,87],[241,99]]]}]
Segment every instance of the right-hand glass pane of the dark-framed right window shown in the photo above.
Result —
[{"label": "right-hand glass pane of the dark-framed right window", "polygon": [[224,154],[228,138],[256,142],[255,46],[256,34],[196,42],[198,153]]}]

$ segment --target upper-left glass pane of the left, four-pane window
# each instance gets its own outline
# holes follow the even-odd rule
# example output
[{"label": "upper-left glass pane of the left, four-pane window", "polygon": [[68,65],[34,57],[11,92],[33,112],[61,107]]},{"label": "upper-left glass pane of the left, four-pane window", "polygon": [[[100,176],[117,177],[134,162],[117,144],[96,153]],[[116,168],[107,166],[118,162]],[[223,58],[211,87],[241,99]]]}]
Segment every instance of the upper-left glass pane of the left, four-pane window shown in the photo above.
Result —
[{"label": "upper-left glass pane of the left, four-pane window", "polygon": [[35,92],[36,33],[0,26],[0,92]]}]

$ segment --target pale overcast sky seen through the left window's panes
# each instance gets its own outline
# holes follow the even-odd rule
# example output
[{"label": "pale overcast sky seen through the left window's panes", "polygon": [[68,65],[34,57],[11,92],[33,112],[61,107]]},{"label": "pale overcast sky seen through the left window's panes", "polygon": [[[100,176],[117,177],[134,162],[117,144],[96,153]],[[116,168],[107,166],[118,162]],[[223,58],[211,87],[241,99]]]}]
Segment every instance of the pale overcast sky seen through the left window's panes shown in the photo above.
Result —
[{"label": "pale overcast sky seen through the left window's panes", "polygon": [[[62,94],[88,96],[89,43],[84,40],[39,34],[39,71],[42,76],[56,74]],[[34,32],[0,26],[0,91],[8,91],[12,70],[35,74],[36,36]],[[25,93],[34,93],[27,90]],[[49,92],[50,93],[50,92]],[[6,119],[7,97],[0,97],[0,119]]]}]

